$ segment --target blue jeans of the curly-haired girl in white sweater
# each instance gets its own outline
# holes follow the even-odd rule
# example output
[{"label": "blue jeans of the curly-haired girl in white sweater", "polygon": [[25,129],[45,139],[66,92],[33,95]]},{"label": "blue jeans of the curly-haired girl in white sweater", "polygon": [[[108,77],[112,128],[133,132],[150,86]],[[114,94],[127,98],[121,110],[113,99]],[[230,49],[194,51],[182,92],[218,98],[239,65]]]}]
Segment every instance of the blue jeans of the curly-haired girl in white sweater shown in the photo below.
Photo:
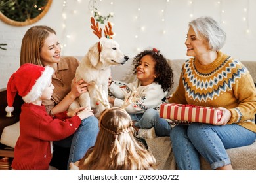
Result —
[{"label": "blue jeans of the curly-haired girl in white sweater", "polygon": [[153,108],[149,108],[144,113],[140,114],[130,114],[136,127],[150,129],[154,127],[156,135],[159,137],[169,136],[171,131],[171,125],[163,119],[160,118],[159,112]]}]

